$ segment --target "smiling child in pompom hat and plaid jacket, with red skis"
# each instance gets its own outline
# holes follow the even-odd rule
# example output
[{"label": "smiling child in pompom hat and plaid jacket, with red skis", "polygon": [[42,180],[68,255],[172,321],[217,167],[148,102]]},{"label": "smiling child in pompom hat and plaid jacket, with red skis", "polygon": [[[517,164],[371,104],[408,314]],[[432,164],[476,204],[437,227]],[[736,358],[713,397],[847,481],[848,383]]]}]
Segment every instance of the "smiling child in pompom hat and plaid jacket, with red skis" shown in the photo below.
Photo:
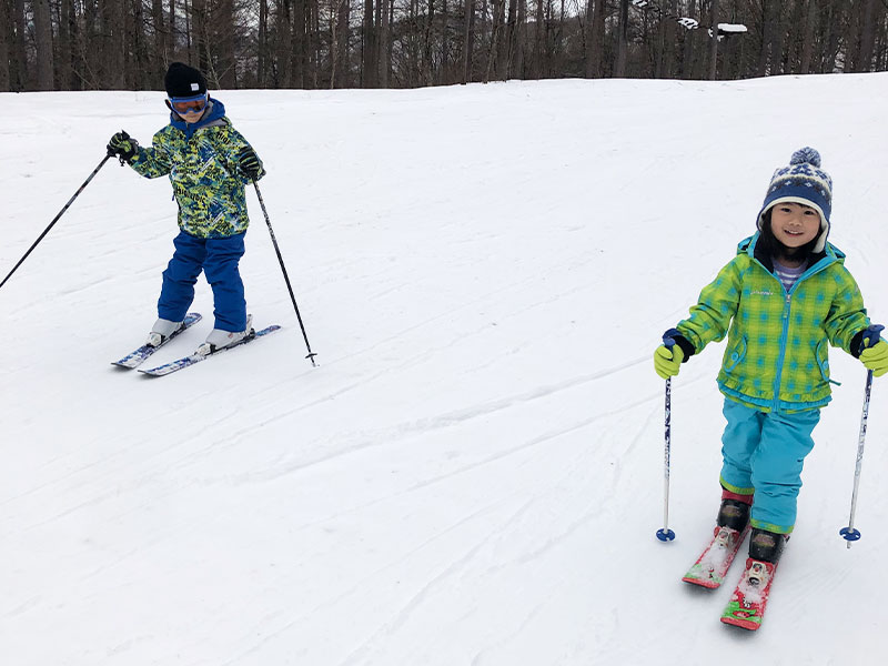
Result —
[{"label": "smiling child in pompom hat and plaid jacket, with red skis", "polygon": [[828,344],[860,359],[875,376],[888,372],[881,327],[870,324],[845,254],[826,241],[831,198],[819,153],[797,151],[771,178],[758,231],[739,243],[654,354],[657,374],[668,379],[709,342],[728,337],[718,373],[727,420],[722,505],[713,544],[685,581],[717,587],[751,527],[747,569],[728,607],[734,612],[723,617],[746,628],[760,623],[796,522],[803,462],[830,401]]}]

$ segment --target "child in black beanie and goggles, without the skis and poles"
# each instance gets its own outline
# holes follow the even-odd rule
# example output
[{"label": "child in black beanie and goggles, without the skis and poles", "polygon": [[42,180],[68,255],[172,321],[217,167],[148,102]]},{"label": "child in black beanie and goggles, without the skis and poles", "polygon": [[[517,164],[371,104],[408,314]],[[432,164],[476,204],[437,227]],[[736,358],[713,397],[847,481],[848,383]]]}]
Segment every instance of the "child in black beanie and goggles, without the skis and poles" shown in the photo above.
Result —
[{"label": "child in black beanie and goggles, without the skis and poles", "polygon": [[170,124],[142,148],[127,132],[108,143],[109,154],[145,178],[169,175],[179,205],[175,252],[163,272],[158,321],[147,346],[158,347],[191,321],[185,313],[203,271],[213,289],[215,324],[196,353],[206,355],[253,335],[238,263],[249,224],[244,185],[265,174],[252,147],[210,97],[200,71],[181,62],[164,78]]}]

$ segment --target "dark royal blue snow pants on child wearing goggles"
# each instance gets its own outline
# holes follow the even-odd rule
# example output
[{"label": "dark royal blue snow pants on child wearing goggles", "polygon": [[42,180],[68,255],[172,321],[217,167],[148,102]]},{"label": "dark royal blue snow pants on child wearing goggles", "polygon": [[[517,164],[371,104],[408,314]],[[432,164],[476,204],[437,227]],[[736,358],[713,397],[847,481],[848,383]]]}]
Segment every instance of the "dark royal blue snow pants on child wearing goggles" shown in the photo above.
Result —
[{"label": "dark royal blue snow pants on child wearing goggles", "polygon": [[180,231],[173,239],[175,252],[163,271],[163,286],[158,301],[158,316],[181,322],[194,300],[198,275],[206,276],[213,287],[215,329],[246,329],[246,301],[238,263],[244,253],[244,234],[201,239]]}]

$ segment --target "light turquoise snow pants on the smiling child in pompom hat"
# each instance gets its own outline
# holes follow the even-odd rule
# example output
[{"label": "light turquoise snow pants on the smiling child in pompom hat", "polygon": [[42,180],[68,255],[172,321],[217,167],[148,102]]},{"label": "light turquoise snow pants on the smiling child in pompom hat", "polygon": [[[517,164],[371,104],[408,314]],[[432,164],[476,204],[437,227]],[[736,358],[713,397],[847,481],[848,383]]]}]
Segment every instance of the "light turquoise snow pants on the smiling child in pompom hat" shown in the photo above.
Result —
[{"label": "light turquoise snow pants on the smiling child in pompom hat", "polygon": [[759,412],[725,398],[722,486],[755,495],[753,527],[789,534],[796,523],[801,466],[814,448],[811,432],[820,410],[797,414]]}]

